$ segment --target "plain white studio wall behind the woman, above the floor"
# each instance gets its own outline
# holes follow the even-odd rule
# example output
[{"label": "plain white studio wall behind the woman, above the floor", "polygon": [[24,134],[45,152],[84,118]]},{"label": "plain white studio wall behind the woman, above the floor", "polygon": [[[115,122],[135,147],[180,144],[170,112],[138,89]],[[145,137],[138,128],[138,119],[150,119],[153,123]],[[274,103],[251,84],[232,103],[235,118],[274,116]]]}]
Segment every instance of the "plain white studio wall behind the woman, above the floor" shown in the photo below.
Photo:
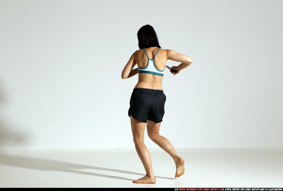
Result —
[{"label": "plain white studio wall behind the woman, above the floor", "polygon": [[120,74],[146,24],[162,48],[193,58],[164,76],[161,134],[175,147],[283,147],[282,8],[280,0],[0,0],[0,148],[132,148],[137,76]]}]

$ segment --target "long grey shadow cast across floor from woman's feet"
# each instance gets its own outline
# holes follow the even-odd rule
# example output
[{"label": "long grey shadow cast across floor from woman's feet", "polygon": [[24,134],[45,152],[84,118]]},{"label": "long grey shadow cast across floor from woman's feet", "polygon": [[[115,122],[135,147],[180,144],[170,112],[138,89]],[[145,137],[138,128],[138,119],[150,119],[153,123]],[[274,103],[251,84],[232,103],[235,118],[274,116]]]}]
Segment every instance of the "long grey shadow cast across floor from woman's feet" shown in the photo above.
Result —
[{"label": "long grey shadow cast across floor from woman's feet", "polygon": [[[83,174],[83,175],[99,176],[99,177],[114,178],[114,179],[129,180],[129,181],[133,181],[133,179],[118,177],[118,176],[111,176],[111,175],[103,175],[103,174],[98,174],[98,173],[84,172],[82,171],[82,169],[95,169],[95,170],[102,170],[102,171],[110,171],[110,172],[145,176],[144,174],[134,173],[130,171],[123,171],[120,169],[75,164],[75,163],[62,162],[62,161],[56,161],[56,160],[50,160],[50,159],[40,159],[40,158],[33,158],[33,157],[7,155],[3,153],[0,153],[0,164],[15,166],[15,167],[22,167],[22,168],[29,168],[29,169],[36,169],[39,171],[59,171],[59,172],[67,172],[67,173],[77,173],[77,174]],[[159,176],[155,176],[155,177],[169,179],[169,180],[176,179],[176,178],[167,178],[167,177],[159,177]]]}]

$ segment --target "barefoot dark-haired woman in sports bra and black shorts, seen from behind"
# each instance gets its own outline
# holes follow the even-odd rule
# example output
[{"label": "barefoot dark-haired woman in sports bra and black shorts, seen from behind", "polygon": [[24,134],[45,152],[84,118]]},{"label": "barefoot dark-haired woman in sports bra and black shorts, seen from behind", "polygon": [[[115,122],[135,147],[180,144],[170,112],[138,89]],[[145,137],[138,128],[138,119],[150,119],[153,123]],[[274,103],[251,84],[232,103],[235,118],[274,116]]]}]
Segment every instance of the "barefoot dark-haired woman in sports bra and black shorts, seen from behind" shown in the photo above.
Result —
[{"label": "barefoot dark-haired woman in sports bra and black shorts, seen from behind", "polygon": [[[139,50],[130,57],[122,71],[122,79],[130,78],[138,73],[138,82],[133,90],[129,117],[136,152],[143,163],[146,176],[134,183],[155,183],[149,151],[144,144],[145,128],[149,138],[163,148],[176,164],[175,177],[184,174],[184,159],[178,156],[168,139],[159,135],[160,125],[164,115],[166,96],[163,93],[162,80],[165,63],[168,59],[181,62],[179,66],[173,66],[171,73],[176,75],[192,63],[188,56],[176,53],[173,50],[161,49],[157,35],[150,25],[141,27],[137,32]],[[137,65],[138,68],[133,69]]]}]

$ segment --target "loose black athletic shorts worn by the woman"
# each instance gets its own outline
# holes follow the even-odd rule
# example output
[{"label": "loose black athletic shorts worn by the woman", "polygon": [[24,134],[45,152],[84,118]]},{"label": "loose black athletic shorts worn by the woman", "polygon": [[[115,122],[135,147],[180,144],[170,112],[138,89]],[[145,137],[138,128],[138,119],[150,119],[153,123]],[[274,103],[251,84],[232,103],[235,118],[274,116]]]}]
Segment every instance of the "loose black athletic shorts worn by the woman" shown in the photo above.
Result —
[{"label": "loose black athletic shorts worn by the woman", "polygon": [[166,96],[162,90],[135,88],[131,100],[129,117],[141,122],[151,120],[155,123],[162,122]]}]

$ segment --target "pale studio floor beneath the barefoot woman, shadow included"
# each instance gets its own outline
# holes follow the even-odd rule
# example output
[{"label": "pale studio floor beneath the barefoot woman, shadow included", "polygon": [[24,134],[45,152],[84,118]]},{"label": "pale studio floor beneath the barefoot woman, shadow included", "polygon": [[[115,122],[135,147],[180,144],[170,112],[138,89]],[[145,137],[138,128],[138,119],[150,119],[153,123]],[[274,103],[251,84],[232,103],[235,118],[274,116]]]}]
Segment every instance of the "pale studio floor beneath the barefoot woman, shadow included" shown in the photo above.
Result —
[{"label": "pale studio floor beneath the barefoot woman, shadow included", "polygon": [[0,187],[283,187],[283,149],[176,149],[185,174],[150,149],[155,184],[134,184],[144,168],[133,149],[0,151]]}]

